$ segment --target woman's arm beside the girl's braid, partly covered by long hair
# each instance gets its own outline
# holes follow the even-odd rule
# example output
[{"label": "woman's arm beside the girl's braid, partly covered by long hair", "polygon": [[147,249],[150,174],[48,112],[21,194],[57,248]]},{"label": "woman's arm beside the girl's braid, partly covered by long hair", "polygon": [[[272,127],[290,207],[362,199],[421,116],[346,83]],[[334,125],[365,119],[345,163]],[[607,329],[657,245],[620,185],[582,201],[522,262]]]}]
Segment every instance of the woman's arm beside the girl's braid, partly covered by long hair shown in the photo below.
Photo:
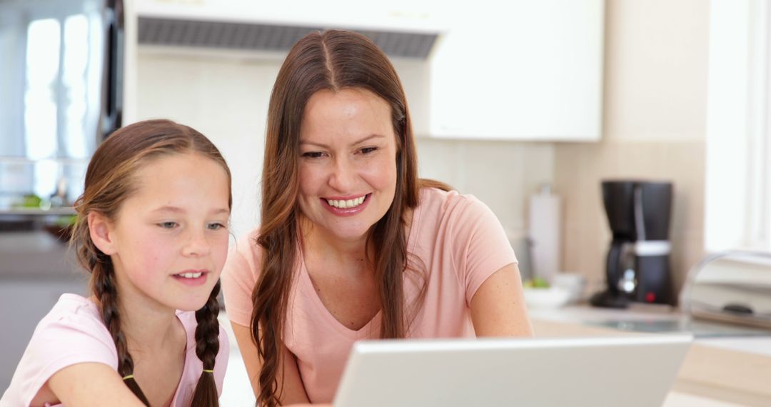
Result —
[{"label": "woman's arm beside the girl's braid, partly covered by long hair", "polygon": [[[246,372],[249,375],[251,389],[254,391],[254,397],[257,397],[260,392],[260,368],[262,362],[260,362],[257,354],[257,346],[251,341],[251,329],[232,321],[231,325],[233,325],[233,333],[238,342],[238,348],[241,349],[241,356],[244,358],[244,365],[246,365]],[[300,372],[297,368],[295,355],[292,355],[285,346],[282,345],[281,348],[284,352],[283,358],[281,358],[283,362],[278,370],[278,375],[276,375],[278,389],[279,391],[283,389],[279,397],[281,404],[309,403],[308,395],[305,394],[305,386],[302,384]]]}]

